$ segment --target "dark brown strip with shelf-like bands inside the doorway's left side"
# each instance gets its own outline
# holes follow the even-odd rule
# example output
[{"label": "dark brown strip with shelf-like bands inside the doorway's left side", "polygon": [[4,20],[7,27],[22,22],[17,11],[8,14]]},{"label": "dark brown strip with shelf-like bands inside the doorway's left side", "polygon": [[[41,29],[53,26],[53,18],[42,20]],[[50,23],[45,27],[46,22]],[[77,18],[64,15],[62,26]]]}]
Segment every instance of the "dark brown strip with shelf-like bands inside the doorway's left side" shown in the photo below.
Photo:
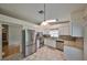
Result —
[{"label": "dark brown strip with shelf-like bands inside the doorway's left side", "polygon": [[9,47],[9,26],[7,24],[2,24],[2,57],[7,57],[8,47]]}]

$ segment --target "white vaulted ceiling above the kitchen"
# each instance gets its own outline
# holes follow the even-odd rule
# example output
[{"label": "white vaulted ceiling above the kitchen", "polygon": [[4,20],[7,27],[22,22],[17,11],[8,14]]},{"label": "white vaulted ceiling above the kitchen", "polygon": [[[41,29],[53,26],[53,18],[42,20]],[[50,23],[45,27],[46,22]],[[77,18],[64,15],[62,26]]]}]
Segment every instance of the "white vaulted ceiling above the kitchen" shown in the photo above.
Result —
[{"label": "white vaulted ceiling above the kitchen", "polygon": [[[70,12],[86,6],[85,3],[48,3],[46,4],[46,19],[69,19]],[[0,13],[32,23],[41,23],[44,20],[43,14],[39,13],[43,9],[43,3],[0,3]]]}]

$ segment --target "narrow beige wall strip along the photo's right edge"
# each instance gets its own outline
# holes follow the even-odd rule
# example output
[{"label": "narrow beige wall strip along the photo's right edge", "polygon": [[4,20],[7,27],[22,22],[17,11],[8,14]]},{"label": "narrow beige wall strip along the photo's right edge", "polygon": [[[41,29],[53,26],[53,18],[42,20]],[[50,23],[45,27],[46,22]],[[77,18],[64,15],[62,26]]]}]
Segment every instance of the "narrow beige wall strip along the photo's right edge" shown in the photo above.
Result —
[{"label": "narrow beige wall strip along the photo's right edge", "polygon": [[84,11],[84,59],[87,61],[87,8]]}]

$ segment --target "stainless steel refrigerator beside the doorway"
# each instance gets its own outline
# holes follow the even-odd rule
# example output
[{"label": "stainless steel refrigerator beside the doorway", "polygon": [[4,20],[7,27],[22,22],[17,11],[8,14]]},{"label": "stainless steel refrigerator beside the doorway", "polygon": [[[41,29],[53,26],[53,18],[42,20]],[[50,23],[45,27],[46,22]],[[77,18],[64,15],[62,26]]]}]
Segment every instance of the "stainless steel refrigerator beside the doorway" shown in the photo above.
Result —
[{"label": "stainless steel refrigerator beside the doorway", "polygon": [[33,54],[36,51],[36,44],[34,43],[34,31],[23,30],[22,31],[22,54],[24,57]]}]

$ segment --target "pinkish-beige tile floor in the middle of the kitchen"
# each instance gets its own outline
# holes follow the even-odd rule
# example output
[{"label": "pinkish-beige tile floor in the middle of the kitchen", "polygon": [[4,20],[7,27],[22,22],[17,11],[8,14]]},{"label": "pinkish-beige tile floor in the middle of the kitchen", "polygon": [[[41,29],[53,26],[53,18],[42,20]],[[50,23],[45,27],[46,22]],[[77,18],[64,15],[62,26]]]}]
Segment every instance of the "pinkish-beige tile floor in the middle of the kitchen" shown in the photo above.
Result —
[{"label": "pinkish-beige tile floor in the middle of the kitchen", "polygon": [[64,61],[64,53],[62,51],[43,46],[36,53],[28,56],[24,61]]}]

